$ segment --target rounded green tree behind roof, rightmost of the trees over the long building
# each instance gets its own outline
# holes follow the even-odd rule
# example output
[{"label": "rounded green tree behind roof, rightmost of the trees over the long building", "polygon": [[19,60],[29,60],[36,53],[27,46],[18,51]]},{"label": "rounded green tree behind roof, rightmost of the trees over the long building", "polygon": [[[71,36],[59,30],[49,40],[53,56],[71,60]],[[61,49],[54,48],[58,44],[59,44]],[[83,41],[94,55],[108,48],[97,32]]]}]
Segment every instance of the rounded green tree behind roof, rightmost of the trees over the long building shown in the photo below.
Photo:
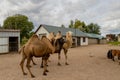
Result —
[{"label": "rounded green tree behind roof, rightmost of the trees over the long building", "polygon": [[95,34],[101,34],[100,33],[100,26],[98,24],[90,23],[87,25],[87,28],[85,30],[87,33],[95,33]]}]

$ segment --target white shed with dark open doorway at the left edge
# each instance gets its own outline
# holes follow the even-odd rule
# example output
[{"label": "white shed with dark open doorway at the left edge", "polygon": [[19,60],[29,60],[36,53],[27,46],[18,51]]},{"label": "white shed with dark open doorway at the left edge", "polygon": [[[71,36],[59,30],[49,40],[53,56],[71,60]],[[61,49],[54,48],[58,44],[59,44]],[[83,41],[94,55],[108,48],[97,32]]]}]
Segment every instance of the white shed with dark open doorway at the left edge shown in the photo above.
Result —
[{"label": "white shed with dark open doorway at the left edge", "polygon": [[20,30],[0,29],[0,53],[18,51]]}]

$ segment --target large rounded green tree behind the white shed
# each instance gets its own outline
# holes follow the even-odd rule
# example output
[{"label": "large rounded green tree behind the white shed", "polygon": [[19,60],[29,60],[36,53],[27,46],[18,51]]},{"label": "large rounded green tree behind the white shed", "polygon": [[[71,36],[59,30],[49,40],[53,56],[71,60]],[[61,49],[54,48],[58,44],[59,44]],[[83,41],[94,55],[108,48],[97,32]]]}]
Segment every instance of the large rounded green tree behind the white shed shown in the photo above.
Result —
[{"label": "large rounded green tree behind the white shed", "polygon": [[29,38],[29,34],[34,28],[33,23],[28,20],[28,17],[22,14],[15,14],[5,19],[3,23],[5,29],[20,29],[21,39],[26,37]]}]

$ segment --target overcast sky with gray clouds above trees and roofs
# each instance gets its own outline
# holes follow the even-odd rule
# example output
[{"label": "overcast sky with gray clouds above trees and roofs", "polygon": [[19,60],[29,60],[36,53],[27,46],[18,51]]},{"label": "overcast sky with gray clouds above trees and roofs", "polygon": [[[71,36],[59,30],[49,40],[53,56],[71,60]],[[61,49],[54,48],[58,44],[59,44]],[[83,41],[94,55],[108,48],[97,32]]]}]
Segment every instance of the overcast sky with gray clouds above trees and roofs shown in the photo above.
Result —
[{"label": "overcast sky with gray clouds above trees and roofs", "polygon": [[0,0],[0,24],[14,14],[28,16],[35,28],[79,19],[100,25],[102,35],[120,33],[120,0]]}]

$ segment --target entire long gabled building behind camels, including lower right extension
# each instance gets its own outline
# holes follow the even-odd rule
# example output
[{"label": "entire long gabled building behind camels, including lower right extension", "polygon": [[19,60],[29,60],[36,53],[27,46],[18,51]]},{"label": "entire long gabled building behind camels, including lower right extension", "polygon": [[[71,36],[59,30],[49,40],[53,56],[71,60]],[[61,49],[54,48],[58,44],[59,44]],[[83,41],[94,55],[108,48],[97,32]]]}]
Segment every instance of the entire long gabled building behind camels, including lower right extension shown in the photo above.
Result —
[{"label": "entire long gabled building behind camels, including lower right extension", "polygon": [[45,24],[41,24],[35,31],[35,34],[41,37],[42,35],[48,35],[50,32],[54,32],[56,34],[58,31],[61,31],[64,37],[67,31],[73,32],[74,47],[84,46],[89,44],[99,44],[103,42],[101,35],[84,33],[79,29],[64,28],[64,27],[45,25]]}]

